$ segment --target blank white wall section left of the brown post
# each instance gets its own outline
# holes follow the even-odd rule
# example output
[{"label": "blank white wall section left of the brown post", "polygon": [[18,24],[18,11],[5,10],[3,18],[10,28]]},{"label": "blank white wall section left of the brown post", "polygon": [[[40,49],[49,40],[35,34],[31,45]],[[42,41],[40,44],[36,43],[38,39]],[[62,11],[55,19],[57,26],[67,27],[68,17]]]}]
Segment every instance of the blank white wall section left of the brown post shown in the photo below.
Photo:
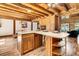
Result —
[{"label": "blank white wall section left of the brown post", "polygon": [[13,20],[0,19],[0,36],[13,34]]}]

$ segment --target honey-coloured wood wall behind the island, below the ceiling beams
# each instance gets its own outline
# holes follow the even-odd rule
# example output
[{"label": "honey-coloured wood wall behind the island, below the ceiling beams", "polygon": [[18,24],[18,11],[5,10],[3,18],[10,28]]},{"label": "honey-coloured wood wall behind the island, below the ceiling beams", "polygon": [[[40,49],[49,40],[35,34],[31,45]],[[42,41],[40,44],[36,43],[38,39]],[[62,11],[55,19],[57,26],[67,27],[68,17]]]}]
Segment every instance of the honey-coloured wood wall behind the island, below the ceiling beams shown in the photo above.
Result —
[{"label": "honey-coloured wood wall behind the island, below the ceiling beams", "polygon": [[39,21],[40,26],[46,25],[46,28],[48,31],[54,31],[55,30],[55,15],[50,15],[48,17],[38,18],[34,21]]}]

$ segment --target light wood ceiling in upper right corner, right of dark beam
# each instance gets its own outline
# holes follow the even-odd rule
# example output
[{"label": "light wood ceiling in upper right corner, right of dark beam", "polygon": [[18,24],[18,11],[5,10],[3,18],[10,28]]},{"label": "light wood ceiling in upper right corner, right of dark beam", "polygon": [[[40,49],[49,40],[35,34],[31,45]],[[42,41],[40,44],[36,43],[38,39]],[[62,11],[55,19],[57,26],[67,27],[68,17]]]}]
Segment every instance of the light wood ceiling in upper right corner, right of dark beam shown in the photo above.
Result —
[{"label": "light wood ceiling in upper right corner, right of dark beam", "polygon": [[67,3],[68,11],[62,11],[62,15],[75,15],[79,14],[79,3]]}]

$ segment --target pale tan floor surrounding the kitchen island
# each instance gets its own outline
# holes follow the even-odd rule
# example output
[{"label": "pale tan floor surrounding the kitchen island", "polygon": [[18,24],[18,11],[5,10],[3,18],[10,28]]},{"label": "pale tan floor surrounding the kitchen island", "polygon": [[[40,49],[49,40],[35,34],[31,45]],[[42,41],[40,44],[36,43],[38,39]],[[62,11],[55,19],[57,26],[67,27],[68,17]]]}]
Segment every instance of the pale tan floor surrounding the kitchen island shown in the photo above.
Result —
[{"label": "pale tan floor surrounding the kitchen island", "polygon": [[[79,55],[79,53],[76,54],[76,40],[73,38],[71,39],[72,40],[68,40],[67,43],[67,55]],[[0,38],[0,56],[20,56],[17,50],[17,40],[13,37]],[[42,46],[29,53],[24,54],[23,56],[45,56],[45,48]]]}]

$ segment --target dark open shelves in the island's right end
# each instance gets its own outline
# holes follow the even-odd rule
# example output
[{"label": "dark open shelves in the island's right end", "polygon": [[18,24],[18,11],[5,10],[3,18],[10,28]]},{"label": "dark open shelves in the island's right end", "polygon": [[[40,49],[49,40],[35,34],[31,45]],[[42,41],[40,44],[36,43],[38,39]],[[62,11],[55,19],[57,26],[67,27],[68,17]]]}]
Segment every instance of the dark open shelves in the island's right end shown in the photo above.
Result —
[{"label": "dark open shelves in the island's right end", "polygon": [[54,56],[61,56],[64,55],[64,52],[61,51],[61,48],[64,46],[63,44],[60,45],[59,42],[62,39],[52,38],[52,55]]}]

